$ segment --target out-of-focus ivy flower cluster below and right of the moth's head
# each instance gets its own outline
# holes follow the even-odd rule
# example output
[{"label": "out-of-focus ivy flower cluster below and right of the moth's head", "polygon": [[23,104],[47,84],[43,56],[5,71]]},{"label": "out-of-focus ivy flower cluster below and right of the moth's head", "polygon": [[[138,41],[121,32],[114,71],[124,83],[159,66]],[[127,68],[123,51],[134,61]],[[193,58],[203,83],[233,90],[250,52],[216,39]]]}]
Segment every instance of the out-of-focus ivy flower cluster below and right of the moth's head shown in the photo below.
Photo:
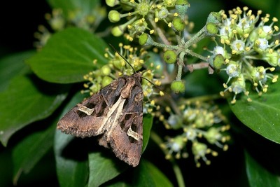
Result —
[{"label": "out-of-focus ivy flower cluster below and right of the moth's head", "polygon": [[[230,136],[226,133],[230,125],[225,125],[221,111],[209,104],[183,104],[180,106],[181,113],[172,113],[169,107],[166,111],[170,114],[168,118],[160,115],[160,120],[167,129],[176,130],[177,135],[169,137],[162,148],[167,150],[166,158],[172,155],[175,158],[187,158],[188,153],[193,153],[196,166],[200,167],[202,159],[207,165],[211,161],[207,158],[208,154],[217,156],[218,152],[212,147],[228,150],[227,141]],[[190,144],[190,146],[187,146]],[[191,150],[188,150],[190,148]]]}]

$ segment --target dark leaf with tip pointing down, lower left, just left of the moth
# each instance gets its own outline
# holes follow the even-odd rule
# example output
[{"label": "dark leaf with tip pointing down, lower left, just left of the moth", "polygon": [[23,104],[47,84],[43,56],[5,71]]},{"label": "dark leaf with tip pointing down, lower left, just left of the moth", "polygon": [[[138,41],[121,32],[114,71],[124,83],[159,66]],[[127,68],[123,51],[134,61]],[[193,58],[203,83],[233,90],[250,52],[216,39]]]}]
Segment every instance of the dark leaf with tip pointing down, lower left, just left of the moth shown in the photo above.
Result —
[{"label": "dark leaf with tip pointing down, lower left, just left of the moth", "polygon": [[20,175],[27,174],[43,158],[53,144],[56,123],[45,130],[27,135],[13,148],[13,183],[17,183]]}]

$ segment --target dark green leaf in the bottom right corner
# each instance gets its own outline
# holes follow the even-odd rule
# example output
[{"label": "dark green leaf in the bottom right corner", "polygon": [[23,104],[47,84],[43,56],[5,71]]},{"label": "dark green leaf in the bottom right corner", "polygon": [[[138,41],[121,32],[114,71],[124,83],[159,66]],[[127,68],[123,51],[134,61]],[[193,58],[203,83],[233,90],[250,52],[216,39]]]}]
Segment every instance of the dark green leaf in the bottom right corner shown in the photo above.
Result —
[{"label": "dark green leaf in the bottom right corner", "polygon": [[248,182],[253,187],[274,187],[280,186],[279,176],[272,174],[265,167],[262,167],[251,155],[245,151],[246,173]]}]

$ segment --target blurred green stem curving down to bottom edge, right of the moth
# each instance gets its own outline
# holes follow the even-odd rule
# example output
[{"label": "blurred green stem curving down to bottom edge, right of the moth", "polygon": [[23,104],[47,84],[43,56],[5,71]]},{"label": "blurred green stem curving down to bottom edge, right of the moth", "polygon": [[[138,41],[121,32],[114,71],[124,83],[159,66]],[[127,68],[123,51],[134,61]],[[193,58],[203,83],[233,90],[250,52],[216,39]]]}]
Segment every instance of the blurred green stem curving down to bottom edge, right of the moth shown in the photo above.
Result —
[{"label": "blurred green stem curving down to bottom edge, right of the moth", "polygon": [[[153,131],[151,131],[151,139],[153,139],[153,141],[155,141],[155,143],[158,145],[163,144],[162,139],[158,136],[158,134],[156,134]],[[160,148],[165,153],[165,155],[167,155],[167,153],[168,153],[167,149],[162,148],[162,147],[160,147]],[[186,185],[185,185],[185,182],[183,181],[183,174],[181,172],[179,165],[175,162],[173,157],[171,157],[169,159],[169,161],[172,163],[172,167],[173,167],[173,170],[174,170],[177,182],[178,182],[178,186],[185,187]]]}]

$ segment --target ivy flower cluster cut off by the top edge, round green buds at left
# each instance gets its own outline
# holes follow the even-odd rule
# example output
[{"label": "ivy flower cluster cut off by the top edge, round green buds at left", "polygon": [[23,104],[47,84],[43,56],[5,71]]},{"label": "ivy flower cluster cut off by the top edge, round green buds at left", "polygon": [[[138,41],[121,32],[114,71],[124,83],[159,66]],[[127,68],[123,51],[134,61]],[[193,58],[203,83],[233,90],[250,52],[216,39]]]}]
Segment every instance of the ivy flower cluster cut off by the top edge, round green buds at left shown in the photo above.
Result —
[{"label": "ivy flower cluster cut off by the top edge, round green buds at left", "polygon": [[172,27],[173,17],[179,15],[177,12],[186,12],[186,8],[189,6],[186,0],[139,0],[138,3],[134,0],[106,0],[106,4],[111,7],[120,6],[123,11],[127,12],[120,13],[120,11],[113,10],[109,12],[108,18],[111,22],[119,22],[121,18],[127,18],[127,22],[113,27],[111,32],[114,36],[121,36],[127,29],[129,34],[126,35],[126,38],[130,41],[133,41],[134,36],[138,36],[146,30],[153,34],[157,29],[157,22],[164,22],[168,27]]}]

